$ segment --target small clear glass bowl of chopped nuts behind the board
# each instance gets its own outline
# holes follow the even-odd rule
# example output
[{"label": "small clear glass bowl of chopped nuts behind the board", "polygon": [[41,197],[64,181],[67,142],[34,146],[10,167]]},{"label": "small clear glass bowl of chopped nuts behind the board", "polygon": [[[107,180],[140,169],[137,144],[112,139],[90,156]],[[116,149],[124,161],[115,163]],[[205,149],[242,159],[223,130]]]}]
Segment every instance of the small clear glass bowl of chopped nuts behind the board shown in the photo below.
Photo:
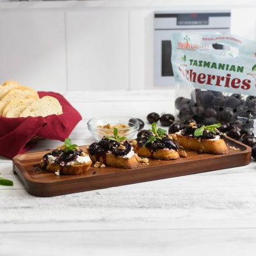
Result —
[{"label": "small clear glass bowl of chopped nuts behind the board", "polygon": [[[126,127],[118,124],[124,124]],[[97,141],[100,141],[103,136],[113,136],[114,125],[118,125],[117,128],[119,136],[125,136],[127,139],[131,140],[136,138],[136,134],[140,127],[140,122],[130,116],[108,116],[92,118],[87,123],[89,131],[92,133],[93,138],[95,138]]]}]

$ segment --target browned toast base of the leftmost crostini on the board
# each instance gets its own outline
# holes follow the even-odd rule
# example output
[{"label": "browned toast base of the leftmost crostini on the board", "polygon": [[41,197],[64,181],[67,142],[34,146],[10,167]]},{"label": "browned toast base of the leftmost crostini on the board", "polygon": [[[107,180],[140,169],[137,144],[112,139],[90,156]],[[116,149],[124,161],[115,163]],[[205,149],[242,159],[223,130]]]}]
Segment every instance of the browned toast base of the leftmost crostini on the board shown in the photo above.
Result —
[{"label": "browned toast base of the leftmost crostini on the board", "polygon": [[45,166],[44,159],[42,159],[42,162],[39,164],[40,168],[47,170],[48,172],[59,172],[60,175],[79,175],[86,173],[90,166],[92,165],[92,161],[85,163],[85,164],[75,164],[75,165],[66,165],[61,166],[60,164],[55,163],[47,163]]}]

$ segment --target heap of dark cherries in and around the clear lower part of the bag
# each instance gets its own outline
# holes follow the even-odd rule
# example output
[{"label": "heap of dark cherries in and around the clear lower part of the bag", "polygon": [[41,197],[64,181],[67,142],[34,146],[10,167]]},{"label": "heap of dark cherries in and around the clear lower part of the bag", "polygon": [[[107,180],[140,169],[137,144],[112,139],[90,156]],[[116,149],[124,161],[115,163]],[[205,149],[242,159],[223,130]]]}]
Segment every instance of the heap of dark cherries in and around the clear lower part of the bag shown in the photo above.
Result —
[{"label": "heap of dark cherries in and around the clear lower part of the bag", "polygon": [[219,130],[252,147],[252,157],[256,159],[256,138],[251,131],[254,124],[252,116],[256,115],[256,97],[228,96],[221,92],[195,89],[191,92],[191,99],[178,97],[175,108],[179,110],[180,124],[170,125],[169,133],[184,129],[191,122],[205,125],[220,122]]}]

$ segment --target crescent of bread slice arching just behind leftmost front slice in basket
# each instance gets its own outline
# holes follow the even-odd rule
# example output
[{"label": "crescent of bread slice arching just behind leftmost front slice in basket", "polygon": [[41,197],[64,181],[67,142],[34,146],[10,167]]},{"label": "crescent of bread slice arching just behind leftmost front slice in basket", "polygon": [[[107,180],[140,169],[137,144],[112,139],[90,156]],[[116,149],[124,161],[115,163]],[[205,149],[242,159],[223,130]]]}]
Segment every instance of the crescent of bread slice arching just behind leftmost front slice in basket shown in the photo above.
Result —
[{"label": "crescent of bread slice arching just behind leftmost front slice in basket", "polygon": [[0,115],[3,115],[4,108],[13,100],[17,99],[28,99],[28,98],[38,99],[38,95],[29,90],[19,90],[12,89],[10,92],[6,93],[4,97],[0,100]]}]

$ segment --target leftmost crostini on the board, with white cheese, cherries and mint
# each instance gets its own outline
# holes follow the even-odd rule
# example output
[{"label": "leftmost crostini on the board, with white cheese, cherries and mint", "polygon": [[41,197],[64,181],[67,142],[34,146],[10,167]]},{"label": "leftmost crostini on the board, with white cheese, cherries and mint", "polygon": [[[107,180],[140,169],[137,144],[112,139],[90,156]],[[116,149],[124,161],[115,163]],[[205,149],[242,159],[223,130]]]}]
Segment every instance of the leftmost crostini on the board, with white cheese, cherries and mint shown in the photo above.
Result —
[{"label": "leftmost crostini on the board, with white cheese, cherries and mint", "polygon": [[78,175],[86,173],[92,165],[90,156],[70,139],[56,150],[45,154],[40,161],[40,168],[56,175]]}]

